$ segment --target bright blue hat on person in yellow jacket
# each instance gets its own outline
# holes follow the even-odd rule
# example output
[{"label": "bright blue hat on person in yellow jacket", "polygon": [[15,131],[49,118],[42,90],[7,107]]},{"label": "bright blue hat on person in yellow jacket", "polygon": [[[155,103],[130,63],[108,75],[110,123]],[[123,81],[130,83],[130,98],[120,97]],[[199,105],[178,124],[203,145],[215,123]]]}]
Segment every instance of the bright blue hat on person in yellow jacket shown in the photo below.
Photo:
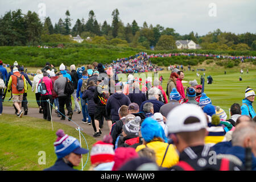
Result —
[{"label": "bright blue hat on person in yellow jacket", "polygon": [[142,138],[146,142],[150,142],[155,137],[160,137],[165,142],[167,142],[167,138],[164,134],[163,127],[158,123],[158,121],[151,117],[144,119],[144,121],[142,122],[141,134]]}]

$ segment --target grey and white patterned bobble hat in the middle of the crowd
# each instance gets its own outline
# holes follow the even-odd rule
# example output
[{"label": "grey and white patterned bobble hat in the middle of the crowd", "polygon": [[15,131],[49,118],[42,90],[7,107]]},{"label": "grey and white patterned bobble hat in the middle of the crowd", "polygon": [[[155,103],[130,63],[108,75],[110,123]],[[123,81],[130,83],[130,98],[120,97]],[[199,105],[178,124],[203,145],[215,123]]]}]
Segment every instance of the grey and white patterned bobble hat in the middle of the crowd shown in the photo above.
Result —
[{"label": "grey and white patterned bobble hat in the middle of the crowd", "polygon": [[140,117],[135,117],[135,119],[131,119],[123,125],[123,131],[127,135],[139,135],[139,122],[141,122]]}]

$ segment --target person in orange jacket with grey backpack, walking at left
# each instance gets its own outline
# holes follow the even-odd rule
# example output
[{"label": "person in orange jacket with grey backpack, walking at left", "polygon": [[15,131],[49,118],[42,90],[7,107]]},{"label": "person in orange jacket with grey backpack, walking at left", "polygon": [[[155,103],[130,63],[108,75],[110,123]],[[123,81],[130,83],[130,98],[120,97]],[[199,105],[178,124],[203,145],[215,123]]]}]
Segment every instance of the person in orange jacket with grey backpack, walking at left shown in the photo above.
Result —
[{"label": "person in orange jacket with grey backpack, walking at left", "polygon": [[10,92],[10,90],[13,92],[14,106],[18,110],[17,116],[21,118],[23,115],[23,111],[21,110],[23,93],[27,92],[27,82],[16,67],[13,68],[13,75],[10,76],[7,89],[8,92]]}]

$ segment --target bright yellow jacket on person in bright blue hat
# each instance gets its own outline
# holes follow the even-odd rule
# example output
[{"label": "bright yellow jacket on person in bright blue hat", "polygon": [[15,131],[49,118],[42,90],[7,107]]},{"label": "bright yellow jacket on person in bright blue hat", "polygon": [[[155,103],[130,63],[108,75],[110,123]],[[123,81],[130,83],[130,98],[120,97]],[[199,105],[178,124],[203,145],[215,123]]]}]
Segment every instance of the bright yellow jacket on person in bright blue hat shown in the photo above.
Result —
[{"label": "bright yellow jacket on person in bright blue hat", "polygon": [[[158,166],[160,166],[163,162],[162,167],[170,168],[179,162],[179,155],[177,154],[176,147],[173,144],[170,144],[170,146],[168,147],[168,143],[153,141],[153,142],[147,143],[146,145],[148,148],[151,148],[152,150],[155,151],[156,163],[158,164]],[[139,150],[145,147],[146,146],[144,144],[138,146],[136,148],[136,152],[138,152]],[[166,153],[167,147],[168,147],[168,151]],[[163,157],[165,153],[166,153],[166,157],[164,158],[164,161],[163,161]]]}]

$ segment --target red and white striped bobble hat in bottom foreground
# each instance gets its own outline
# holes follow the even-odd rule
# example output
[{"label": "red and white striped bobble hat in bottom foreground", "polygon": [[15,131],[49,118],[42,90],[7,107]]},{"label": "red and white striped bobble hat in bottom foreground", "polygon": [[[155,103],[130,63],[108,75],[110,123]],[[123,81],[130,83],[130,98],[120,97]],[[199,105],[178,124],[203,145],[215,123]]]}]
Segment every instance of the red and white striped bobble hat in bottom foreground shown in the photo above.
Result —
[{"label": "red and white striped bobble hat in bottom foreground", "polygon": [[92,164],[113,162],[115,152],[112,142],[111,135],[104,135],[102,141],[94,143],[90,151],[90,162]]}]

